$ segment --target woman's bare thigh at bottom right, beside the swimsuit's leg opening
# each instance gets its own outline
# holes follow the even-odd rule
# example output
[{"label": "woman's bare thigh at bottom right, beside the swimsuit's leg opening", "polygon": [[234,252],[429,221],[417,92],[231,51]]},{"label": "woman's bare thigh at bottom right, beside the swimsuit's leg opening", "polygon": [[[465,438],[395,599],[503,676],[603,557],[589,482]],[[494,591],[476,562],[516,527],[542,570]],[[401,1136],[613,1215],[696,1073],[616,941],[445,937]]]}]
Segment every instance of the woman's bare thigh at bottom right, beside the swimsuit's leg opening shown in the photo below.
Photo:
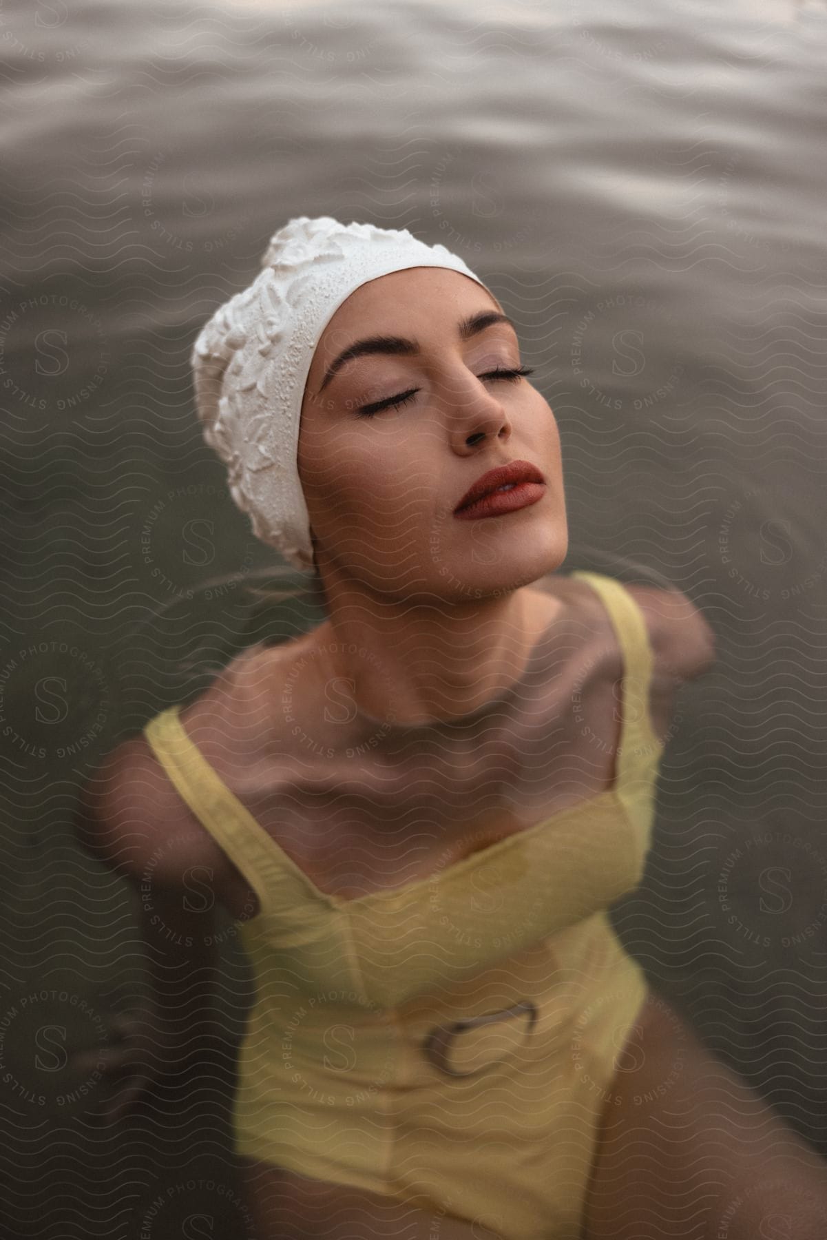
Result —
[{"label": "woman's bare thigh at bottom right, beside the swimsuit's leg opening", "polygon": [[583,1240],[825,1240],[825,1161],[660,996],[617,1063]]}]

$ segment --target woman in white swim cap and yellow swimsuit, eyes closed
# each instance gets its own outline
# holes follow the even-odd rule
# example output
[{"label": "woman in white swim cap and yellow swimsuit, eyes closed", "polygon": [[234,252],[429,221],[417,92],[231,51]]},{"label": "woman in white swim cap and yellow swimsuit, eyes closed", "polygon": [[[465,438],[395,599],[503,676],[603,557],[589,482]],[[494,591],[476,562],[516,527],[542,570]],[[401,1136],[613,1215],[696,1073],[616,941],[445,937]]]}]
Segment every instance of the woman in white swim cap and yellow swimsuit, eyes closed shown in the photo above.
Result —
[{"label": "woman in white swim cap and yellow swimsuit, eyes closed", "polygon": [[498,301],[443,247],[301,217],[193,361],[236,501],[315,567],[326,619],[119,746],[82,837],[151,869],[165,1053],[176,1013],[184,1042],[193,1024],[165,971],[214,963],[181,898],[195,868],[239,926],[258,1235],[712,1236],[729,1209],[751,1236],[763,1205],[732,1203],[771,1163],[803,1236],[818,1159],[606,914],[642,875],[672,696],[710,630],[678,591],[557,574],[559,436]]}]

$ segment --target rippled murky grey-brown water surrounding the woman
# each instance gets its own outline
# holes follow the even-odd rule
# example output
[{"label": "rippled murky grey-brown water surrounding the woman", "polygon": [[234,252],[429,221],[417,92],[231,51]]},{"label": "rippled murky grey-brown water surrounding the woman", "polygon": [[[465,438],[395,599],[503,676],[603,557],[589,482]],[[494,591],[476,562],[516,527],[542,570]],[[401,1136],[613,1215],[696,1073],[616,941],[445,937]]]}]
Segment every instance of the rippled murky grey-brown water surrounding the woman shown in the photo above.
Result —
[{"label": "rippled murky grey-brown water surrounding the woman", "polygon": [[[72,811],[118,737],[310,622],[252,610],[273,553],[188,372],[294,215],[461,254],[559,422],[564,570],[708,615],[615,923],[827,1157],[826,51],[823,0],[2,5],[4,1234],[157,1240],[200,1200],[247,1235],[231,1081],[89,1122],[67,1048],[144,975]],[[239,1030],[229,936],[224,963]]]}]

